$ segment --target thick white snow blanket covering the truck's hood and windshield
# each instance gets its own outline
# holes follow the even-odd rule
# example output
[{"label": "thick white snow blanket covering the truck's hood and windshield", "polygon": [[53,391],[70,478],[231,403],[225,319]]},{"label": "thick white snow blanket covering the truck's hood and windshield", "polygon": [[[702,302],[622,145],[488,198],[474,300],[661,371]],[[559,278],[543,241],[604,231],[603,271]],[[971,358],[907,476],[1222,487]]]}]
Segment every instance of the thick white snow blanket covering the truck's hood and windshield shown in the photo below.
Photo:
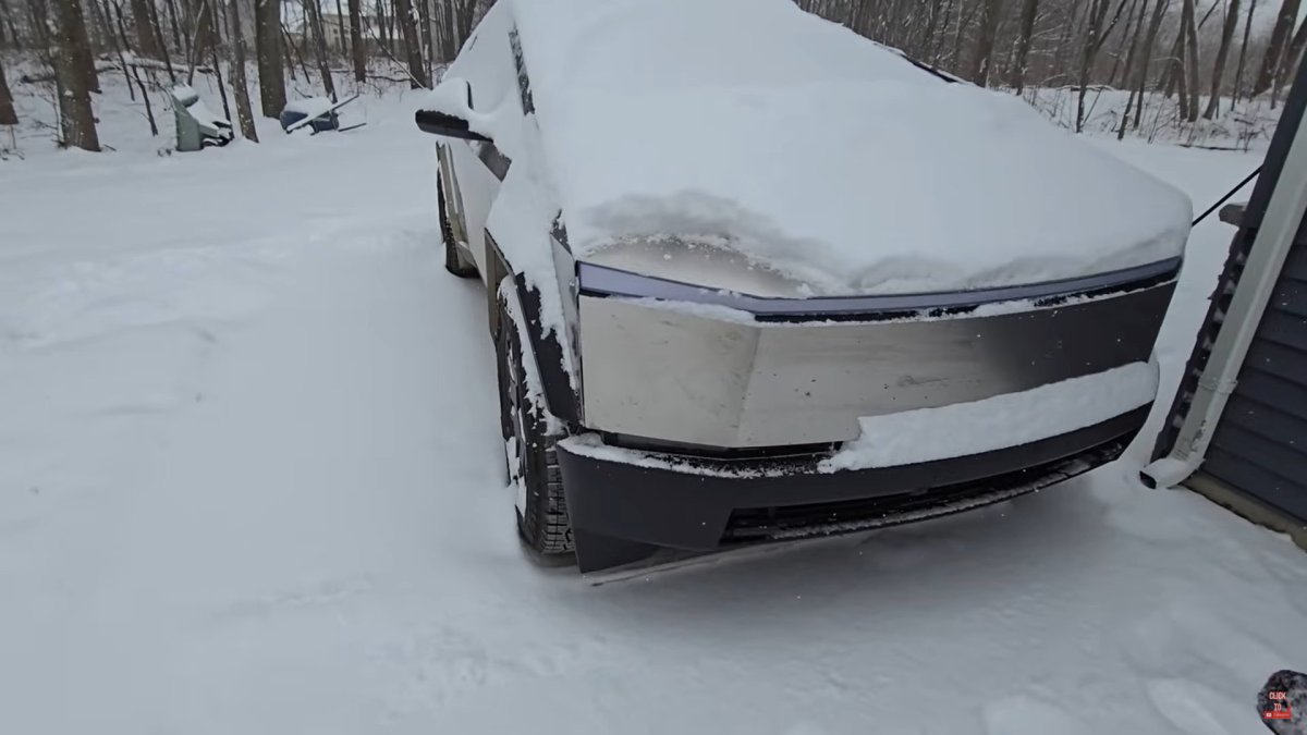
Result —
[{"label": "thick white snow blanket covering the truck's hood and windshield", "polygon": [[791,0],[510,1],[582,258],[724,238],[818,292],[887,293],[1183,251],[1184,194]]}]

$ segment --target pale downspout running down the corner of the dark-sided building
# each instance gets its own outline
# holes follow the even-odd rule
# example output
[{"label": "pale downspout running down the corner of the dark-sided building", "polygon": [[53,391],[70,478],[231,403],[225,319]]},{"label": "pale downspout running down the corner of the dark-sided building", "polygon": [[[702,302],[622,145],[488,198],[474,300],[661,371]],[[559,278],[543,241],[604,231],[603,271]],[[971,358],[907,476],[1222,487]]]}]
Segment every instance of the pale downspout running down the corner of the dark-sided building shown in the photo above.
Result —
[{"label": "pale downspout running down the corner of the dark-sided building", "polygon": [[1230,310],[1225,315],[1216,344],[1212,345],[1212,357],[1208,358],[1199,379],[1197,391],[1171,454],[1140,472],[1140,479],[1149,488],[1178,485],[1202,464],[1212,443],[1212,433],[1238,383],[1239,370],[1261,324],[1261,315],[1270,301],[1270,292],[1280,279],[1289,248],[1293,247],[1304,211],[1307,211],[1307,115],[1298,123],[1297,135],[1280,171],[1280,180],[1266,204],[1266,216],[1253,239],[1248,262],[1230,301]]}]

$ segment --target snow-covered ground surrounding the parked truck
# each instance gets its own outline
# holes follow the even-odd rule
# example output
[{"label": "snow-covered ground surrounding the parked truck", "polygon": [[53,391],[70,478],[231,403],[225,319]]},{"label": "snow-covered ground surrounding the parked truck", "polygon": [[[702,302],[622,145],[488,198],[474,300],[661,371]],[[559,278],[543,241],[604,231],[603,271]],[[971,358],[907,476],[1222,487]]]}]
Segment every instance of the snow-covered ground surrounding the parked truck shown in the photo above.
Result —
[{"label": "snow-covered ground surrounding the parked truck", "polygon": [[[1307,668],[1307,556],[1140,487],[1151,430],[949,519],[601,587],[533,565],[431,140],[366,112],[0,162],[0,732],[1242,734]],[[1100,145],[1199,207],[1259,162]],[[1230,235],[1193,233],[1163,396]]]}]

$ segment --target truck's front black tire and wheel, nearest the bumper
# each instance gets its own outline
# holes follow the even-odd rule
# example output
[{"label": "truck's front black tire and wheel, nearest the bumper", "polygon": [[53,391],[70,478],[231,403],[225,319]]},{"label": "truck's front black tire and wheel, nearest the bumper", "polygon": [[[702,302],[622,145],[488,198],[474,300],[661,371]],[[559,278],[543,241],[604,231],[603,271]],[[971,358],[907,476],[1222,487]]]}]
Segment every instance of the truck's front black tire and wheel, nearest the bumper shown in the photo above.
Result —
[{"label": "truck's front black tire and wheel, nearest the bumper", "polygon": [[[523,368],[521,339],[514,314],[499,298],[499,415],[505,438],[508,480],[525,490],[518,514],[518,534],[535,553],[552,562],[569,561],[572,555],[571,521],[563,497],[563,479],[554,449],[557,437],[548,436],[542,408],[533,409]],[[515,449],[516,456],[511,451]],[[520,490],[519,490],[520,492]]]}]

